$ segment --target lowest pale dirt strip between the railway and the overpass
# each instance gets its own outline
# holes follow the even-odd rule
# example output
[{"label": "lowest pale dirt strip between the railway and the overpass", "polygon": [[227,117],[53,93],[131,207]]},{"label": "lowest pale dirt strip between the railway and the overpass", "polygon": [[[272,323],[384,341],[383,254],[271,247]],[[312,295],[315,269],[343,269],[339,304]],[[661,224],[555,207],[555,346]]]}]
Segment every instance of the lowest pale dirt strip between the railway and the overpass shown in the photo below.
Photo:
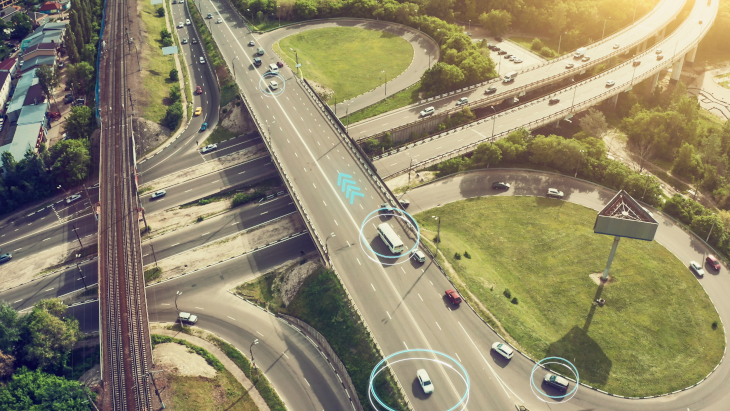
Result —
[{"label": "lowest pale dirt strip between the railway and the overpass", "polygon": [[235,236],[165,258],[158,261],[162,276],[157,282],[241,255],[305,228],[302,217],[292,214],[253,231],[240,232]]}]

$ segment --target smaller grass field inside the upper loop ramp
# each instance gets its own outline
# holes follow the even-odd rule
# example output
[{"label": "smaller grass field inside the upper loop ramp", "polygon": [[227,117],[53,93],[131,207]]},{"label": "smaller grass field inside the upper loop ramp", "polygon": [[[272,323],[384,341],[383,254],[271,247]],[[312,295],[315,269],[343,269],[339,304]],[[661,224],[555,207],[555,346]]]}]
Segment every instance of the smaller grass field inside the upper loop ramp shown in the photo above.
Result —
[{"label": "smaller grass field inside the upper loop ramp", "polygon": [[[304,76],[334,90],[330,103],[350,99],[393,79],[413,60],[413,47],[395,34],[351,27],[308,30],[282,39],[277,52]],[[282,54],[283,53],[283,54]]]}]

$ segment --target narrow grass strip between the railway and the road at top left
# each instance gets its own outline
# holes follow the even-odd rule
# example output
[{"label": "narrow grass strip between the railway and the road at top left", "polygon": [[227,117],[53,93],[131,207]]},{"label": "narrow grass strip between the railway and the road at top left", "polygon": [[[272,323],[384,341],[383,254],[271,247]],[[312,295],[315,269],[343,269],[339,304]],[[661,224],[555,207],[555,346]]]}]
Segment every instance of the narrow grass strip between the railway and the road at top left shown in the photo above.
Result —
[{"label": "narrow grass strip between the railway and the road at top left", "polygon": [[[144,118],[159,123],[167,111],[165,100],[170,94],[170,87],[177,84],[177,80],[170,80],[170,70],[173,68],[172,58],[162,55],[162,41],[160,31],[165,28],[165,17],[157,17],[156,9],[149,2],[142,5],[140,16],[147,29],[148,37],[145,47],[142,47],[142,82],[149,92],[147,104],[144,106]],[[174,36],[174,33],[173,33]],[[181,73],[182,75],[182,73]]]}]

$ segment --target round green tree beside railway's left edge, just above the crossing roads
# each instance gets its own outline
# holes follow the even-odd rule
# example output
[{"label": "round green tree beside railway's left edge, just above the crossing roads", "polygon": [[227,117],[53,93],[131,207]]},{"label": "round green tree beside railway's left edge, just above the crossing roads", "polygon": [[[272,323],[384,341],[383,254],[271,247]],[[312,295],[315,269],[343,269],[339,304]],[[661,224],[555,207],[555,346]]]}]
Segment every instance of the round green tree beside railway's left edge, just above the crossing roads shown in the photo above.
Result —
[{"label": "round green tree beside railway's left edge, just above the crossing roads", "polygon": [[81,140],[66,140],[51,147],[53,165],[51,173],[55,180],[67,187],[81,183],[89,172],[91,157],[87,143]]}]

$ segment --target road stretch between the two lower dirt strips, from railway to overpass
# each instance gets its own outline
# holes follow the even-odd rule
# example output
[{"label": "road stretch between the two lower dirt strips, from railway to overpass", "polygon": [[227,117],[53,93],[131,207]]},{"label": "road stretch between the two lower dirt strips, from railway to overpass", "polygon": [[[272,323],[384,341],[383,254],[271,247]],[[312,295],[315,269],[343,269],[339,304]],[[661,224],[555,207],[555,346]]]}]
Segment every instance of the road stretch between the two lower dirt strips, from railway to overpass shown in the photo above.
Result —
[{"label": "road stretch between the two lower dirt strips, from railway to overpass", "polygon": [[159,261],[296,211],[291,199],[282,196],[260,207],[247,207],[214,217],[143,242],[142,261],[151,264],[155,258]]}]

